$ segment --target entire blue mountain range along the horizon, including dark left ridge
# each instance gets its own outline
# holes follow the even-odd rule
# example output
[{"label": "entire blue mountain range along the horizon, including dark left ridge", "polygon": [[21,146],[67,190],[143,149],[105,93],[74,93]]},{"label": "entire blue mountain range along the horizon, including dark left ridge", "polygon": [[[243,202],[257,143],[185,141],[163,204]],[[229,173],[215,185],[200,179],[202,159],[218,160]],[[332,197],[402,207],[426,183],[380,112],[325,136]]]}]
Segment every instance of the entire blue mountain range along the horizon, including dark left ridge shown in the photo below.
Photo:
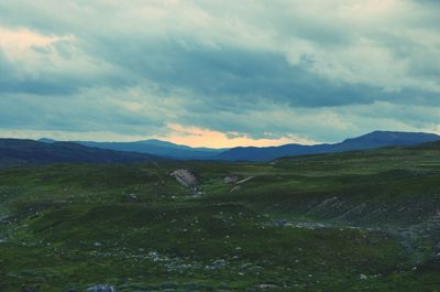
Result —
[{"label": "entire blue mountain range along the horizon, including dark left ridge", "polygon": [[[440,141],[440,136],[422,132],[374,131],[339,143],[315,145],[239,147],[232,149],[190,148],[160,140],[138,142],[58,142],[0,139],[0,166],[61,162],[129,163],[164,159],[264,162],[283,156],[334,153],[384,147],[408,147]],[[428,144],[429,145],[429,144]]]}]

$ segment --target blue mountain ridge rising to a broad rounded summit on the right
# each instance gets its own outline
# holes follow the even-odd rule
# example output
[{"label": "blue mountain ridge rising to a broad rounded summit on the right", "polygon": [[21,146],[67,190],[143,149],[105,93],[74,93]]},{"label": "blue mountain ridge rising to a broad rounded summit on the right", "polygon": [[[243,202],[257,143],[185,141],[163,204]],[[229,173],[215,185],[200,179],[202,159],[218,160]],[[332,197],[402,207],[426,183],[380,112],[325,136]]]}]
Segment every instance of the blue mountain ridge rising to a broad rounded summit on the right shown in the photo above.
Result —
[{"label": "blue mountain ridge rising to a broad rounded summit on the right", "polygon": [[366,150],[383,147],[406,147],[439,140],[440,136],[433,133],[374,131],[334,144],[285,144],[280,147],[265,148],[232,148],[217,155],[217,159],[228,161],[270,161],[282,156]]}]

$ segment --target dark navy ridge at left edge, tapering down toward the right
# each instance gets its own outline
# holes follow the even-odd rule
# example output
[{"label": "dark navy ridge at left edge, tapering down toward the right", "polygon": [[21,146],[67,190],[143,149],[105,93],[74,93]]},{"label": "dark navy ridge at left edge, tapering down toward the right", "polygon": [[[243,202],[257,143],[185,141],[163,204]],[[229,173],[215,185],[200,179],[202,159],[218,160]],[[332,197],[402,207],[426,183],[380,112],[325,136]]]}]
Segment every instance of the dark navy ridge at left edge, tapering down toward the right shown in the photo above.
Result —
[{"label": "dark navy ridge at left edge, tapering down toward the right", "polygon": [[34,140],[0,139],[0,166],[57,162],[128,163],[160,159],[150,154],[102,150],[74,142],[47,143]]}]

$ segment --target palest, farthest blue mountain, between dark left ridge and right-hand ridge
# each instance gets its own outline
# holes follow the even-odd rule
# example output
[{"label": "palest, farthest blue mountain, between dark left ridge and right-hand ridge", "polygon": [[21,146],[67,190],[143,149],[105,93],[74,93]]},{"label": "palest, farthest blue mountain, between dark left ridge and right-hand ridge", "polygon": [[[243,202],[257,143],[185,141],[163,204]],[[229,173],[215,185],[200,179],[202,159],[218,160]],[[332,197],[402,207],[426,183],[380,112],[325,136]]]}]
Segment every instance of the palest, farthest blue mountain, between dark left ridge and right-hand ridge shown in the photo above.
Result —
[{"label": "palest, farthest blue mountain, between dark left ridge and right-hand ridge", "polygon": [[[52,143],[54,140],[42,138],[38,141]],[[94,142],[94,141],[75,141],[78,144],[95,147],[100,149],[109,149],[117,151],[130,151],[139,153],[148,153],[170,159],[215,159],[218,154],[227,149],[210,148],[190,148],[187,145],[175,144],[172,142],[161,141],[156,139],[135,141],[135,142]]]}]

